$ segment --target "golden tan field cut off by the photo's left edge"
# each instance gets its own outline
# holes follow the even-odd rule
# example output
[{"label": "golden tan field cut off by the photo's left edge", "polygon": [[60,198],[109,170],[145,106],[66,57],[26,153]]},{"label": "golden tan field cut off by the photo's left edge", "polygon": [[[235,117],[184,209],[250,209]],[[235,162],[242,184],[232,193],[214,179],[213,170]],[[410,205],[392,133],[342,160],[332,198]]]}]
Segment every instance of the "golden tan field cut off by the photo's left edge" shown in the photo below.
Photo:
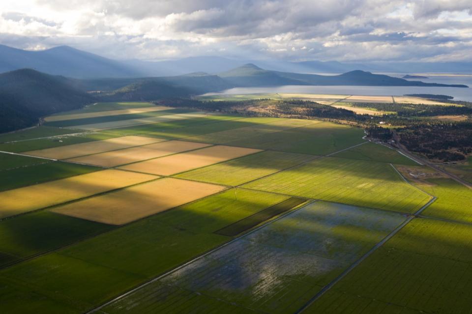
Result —
[{"label": "golden tan field cut off by the photo's left edge", "polygon": [[119,170],[104,170],[66,179],[0,192],[0,218],[85,198],[158,176]]}]

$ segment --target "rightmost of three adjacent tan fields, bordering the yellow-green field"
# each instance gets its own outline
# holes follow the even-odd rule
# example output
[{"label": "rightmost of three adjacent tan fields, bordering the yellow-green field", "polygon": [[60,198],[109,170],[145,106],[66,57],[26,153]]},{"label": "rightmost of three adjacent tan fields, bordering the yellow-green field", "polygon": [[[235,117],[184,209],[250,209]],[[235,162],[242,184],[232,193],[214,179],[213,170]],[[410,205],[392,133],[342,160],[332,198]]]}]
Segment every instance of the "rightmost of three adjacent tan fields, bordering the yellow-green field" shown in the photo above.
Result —
[{"label": "rightmost of three adjacent tan fields, bordering the yellow-green field", "polygon": [[167,157],[151,159],[120,167],[120,169],[171,175],[222,161],[242,157],[261,151],[260,149],[217,145]]}]

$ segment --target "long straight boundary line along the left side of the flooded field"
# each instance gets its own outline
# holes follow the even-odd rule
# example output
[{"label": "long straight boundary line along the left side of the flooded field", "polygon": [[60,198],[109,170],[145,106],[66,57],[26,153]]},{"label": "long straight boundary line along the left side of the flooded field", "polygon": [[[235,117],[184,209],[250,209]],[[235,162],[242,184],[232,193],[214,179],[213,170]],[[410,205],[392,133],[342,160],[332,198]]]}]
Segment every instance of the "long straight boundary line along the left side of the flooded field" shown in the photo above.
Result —
[{"label": "long straight boundary line along the left side of the flooded field", "polygon": [[[89,310],[89,311],[86,312],[85,314],[93,314],[93,313],[96,313],[96,312],[98,312],[98,311],[101,311],[101,309],[103,309],[104,307],[106,307],[106,306],[108,306],[108,305],[110,305],[110,304],[112,304],[112,303],[114,303],[114,302],[116,302],[116,301],[118,301],[118,300],[121,300],[122,298],[124,298],[124,297],[126,297],[126,296],[132,294],[133,292],[136,292],[136,291],[138,291],[139,289],[141,289],[141,288],[143,288],[143,287],[145,287],[145,286],[148,286],[148,285],[150,285],[150,284],[152,284],[152,283],[155,283],[155,282],[159,281],[160,279],[162,279],[162,278],[164,278],[164,277],[166,277],[166,276],[168,276],[168,275],[170,275],[170,274],[172,274],[172,273],[174,273],[174,272],[176,272],[176,271],[182,269],[183,267],[185,267],[185,266],[187,266],[187,265],[189,265],[189,264],[191,264],[191,263],[193,263],[193,262],[195,262],[195,261],[197,261],[197,260],[199,260],[199,259],[202,259],[202,258],[204,258],[204,257],[206,257],[206,256],[208,256],[208,255],[210,255],[211,253],[216,252],[216,251],[218,251],[218,250],[220,250],[220,249],[222,249],[222,248],[224,248],[224,247],[230,245],[230,244],[233,243],[233,242],[238,241],[239,239],[241,239],[241,238],[244,237],[244,236],[247,236],[247,235],[249,235],[249,234],[251,234],[251,233],[253,233],[253,232],[256,232],[257,230],[259,230],[259,229],[261,229],[261,228],[264,228],[264,227],[266,227],[266,226],[268,226],[268,225],[270,225],[270,224],[272,224],[272,223],[274,223],[274,222],[276,222],[276,221],[278,221],[278,220],[280,220],[280,219],[282,219],[282,218],[285,218],[286,216],[288,216],[288,215],[290,215],[290,214],[292,214],[292,213],[298,211],[299,209],[301,209],[301,208],[303,208],[303,207],[305,207],[305,206],[307,206],[307,205],[309,205],[309,204],[311,204],[311,203],[313,203],[313,202],[316,202],[316,200],[308,200],[307,202],[302,203],[302,204],[296,206],[294,209],[289,210],[288,212],[286,212],[286,213],[284,213],[284,214],[282,214],[282,215],[280,215],[280,216],[278,216],[278,217],[276,217],[276,218],[274,218],[274,219],[271,219],[271,220],[267,221],[266,223],[262,224],[261,226],[259,226],[259,227],[257,227],[257,228],[251,229],[251,230],[248,231],[248,232],[244,232],[244,233],[240,234],[239,236],[233,238],[232,240],[230,240],[230,241],[228,241],[228,242],[225,242],[225,243],[223,243],[223,244],[221,244],[221,245],[219,245],[219,246],[217,246],[217,247],[215,247],[215,248],[213,248],[213,249],[211,249],[211,250],[209,250],[209,251],[207,251],[207,252],[205,252],[205,253],[203,253],[203,254],[197,256],[197,257],[194,257],[194,258],[192,258],[192,259],[190,259],[190,260],[184,262],[183,264],[178,265],[177,267],[175,267],[175,268],[173,268],[173,269],[171,269],[171,270],[169,270],[169,271],[167,271],[167,272],[165,272],[165,273],[163,273],[163,274],[161,274],[161,275],[159,275],[159,276],[157,276],[157,277],[154,277],[154,278],[152,278],[152,279],[150,279],[150,280],[148,280],[148,281],[146,281],[146,282],[144,282],[144,283],[142,283],[142,284],[140,284],[140,285],[135,286],[134,288],[132,288],[132,289],[130,289],[130,290],[128,290],[128,291],[122,293],[121,295],[118,295],[117,297],[115,297],[115,298],[113,298],[113,299],[111,299],[111,300],[109,300],[109,301],[106,301],[106,302],[103,303],[102,305],[99,305],[98,307],[95,307],[95,308]],[[192,291],[192,292],[195,292],[195,291]],[[102,312],[102,313],[104,313],[104,312]]]}]

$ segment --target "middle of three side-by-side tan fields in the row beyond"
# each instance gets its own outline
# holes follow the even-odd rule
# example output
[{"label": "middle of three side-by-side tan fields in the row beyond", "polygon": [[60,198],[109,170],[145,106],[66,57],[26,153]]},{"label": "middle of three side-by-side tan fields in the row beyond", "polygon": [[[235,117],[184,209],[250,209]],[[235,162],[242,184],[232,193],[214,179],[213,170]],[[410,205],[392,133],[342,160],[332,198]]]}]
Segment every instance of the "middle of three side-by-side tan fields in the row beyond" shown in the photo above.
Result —
[{"label": "middle of three side-by-side tan fields in the row beyond", "polygon": [[180,153],[187,150],[203,148],[206,146],[210,146],[210,144],[184,141],[167,141],[145,146],[108,151],[68,160],[82,164],[115,167],[151,158],[158,158],[170,154]]}]

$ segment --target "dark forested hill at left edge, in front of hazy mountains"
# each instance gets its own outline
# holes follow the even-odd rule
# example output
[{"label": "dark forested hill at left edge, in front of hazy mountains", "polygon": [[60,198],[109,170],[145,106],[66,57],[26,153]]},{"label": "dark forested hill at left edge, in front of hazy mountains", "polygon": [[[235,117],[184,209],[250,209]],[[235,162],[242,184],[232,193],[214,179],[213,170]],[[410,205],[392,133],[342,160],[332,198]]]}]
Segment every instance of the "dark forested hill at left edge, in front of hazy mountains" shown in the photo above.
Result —
[{"label": "dark forested hill at left edge, in front of hazy mountains", "polygon": [[0,132],[29,127],[41,116],[78,109],[94,98],[61,76],[22,69],[0,74]]}]

